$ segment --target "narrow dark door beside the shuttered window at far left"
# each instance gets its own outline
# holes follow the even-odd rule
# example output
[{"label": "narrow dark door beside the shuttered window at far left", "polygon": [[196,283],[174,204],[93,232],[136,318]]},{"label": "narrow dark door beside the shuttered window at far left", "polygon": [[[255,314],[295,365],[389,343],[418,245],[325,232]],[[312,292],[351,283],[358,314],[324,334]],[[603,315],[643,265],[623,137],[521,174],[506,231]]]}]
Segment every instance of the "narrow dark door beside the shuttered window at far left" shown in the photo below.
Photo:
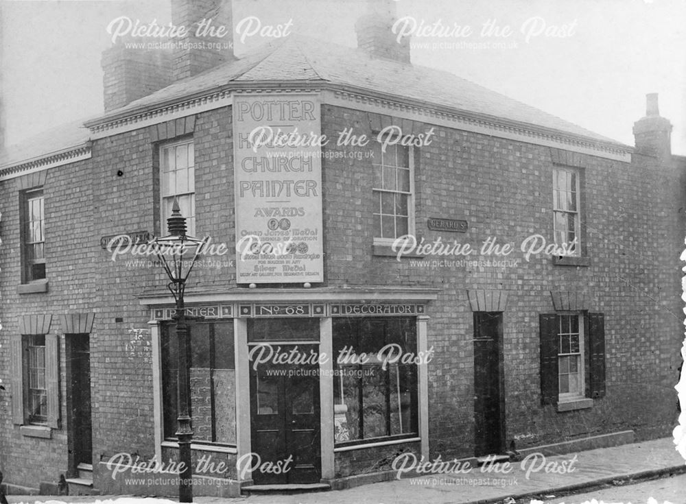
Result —
[{"label": "narrow dark door beside the shuttered window at far left", "polygon": [[91,424],[91,348],[87,334],[71,338],[71,421],[74,432],[74,463],[93,463]]}]

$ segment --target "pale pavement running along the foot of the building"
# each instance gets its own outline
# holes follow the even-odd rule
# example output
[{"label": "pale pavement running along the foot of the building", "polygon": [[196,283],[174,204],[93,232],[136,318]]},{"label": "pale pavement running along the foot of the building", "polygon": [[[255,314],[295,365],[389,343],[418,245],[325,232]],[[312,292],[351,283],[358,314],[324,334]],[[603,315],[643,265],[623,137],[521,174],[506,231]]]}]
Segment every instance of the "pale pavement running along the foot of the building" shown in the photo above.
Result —
[{"label": "pale pavement running along the foot of the building", "polygon": [[[299,494],[253,494],[237,498],[198,496],[199,504],[274,503],[274,504],[512,504],[543,502],[565,494],[626,485],[668,475],[686,474],[686,461],[676,451],[672,437],[611,448],[598,448],[567,455],[543,457],[529,455],[510,466],[482,466],[466,473],[427,474],[421,477],[372,483],[346,490]],[[123,496],[15,496],[8,495],[10,504],[93,503],[113,500],[123,504]],[[129,501],[151,501],[126,496]],[[130,497],[130,498],[129,498]],[[659,500],[659,496],[655,496]],[[163,498],[169,499],[169,498]],[[119,502],[121,501],[121,502]],[[637,504],[638,501],[635,502]],[[662,504],[663,501],[659,500]],[[138,502],[137,504],[146,504]],[[686,489],[683,502],[686,504]]]}]

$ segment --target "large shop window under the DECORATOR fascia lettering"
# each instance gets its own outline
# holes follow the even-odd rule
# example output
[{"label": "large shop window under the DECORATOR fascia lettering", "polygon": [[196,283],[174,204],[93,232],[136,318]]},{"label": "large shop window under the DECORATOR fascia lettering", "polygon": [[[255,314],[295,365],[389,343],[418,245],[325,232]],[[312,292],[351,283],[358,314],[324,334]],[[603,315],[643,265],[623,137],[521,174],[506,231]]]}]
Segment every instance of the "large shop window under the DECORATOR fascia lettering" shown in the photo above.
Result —
[{"label": "large shop window under the DECORATOR fascia lettering", "polygon": [[418,433],[416,354],[414,317],[333,319],[337,443]]}]

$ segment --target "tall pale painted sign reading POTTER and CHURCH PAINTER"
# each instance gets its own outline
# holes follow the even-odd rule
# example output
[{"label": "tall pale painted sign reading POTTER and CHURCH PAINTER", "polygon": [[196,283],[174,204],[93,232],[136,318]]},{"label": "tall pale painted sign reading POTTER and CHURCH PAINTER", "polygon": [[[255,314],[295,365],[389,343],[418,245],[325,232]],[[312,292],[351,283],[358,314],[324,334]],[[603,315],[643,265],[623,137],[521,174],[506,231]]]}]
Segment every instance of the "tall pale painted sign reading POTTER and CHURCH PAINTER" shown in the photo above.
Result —
[{"label": "tall pale painted sign reading POTTER and CHURCH PAINTER", "polygon": [[324,280],[316,94],[233,97],[237,283]]}]

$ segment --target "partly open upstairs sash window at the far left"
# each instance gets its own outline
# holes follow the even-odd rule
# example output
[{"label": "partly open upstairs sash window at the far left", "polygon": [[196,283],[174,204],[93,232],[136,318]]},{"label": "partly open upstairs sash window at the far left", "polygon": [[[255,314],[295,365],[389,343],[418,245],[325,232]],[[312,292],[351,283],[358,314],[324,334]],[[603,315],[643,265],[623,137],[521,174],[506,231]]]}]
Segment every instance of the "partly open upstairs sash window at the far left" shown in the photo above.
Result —
[{"label": "partly open upstairs sash window at the far left", "polygon": [[23,283],[45,278],[45,204],[43,189],[22,193]]}]

